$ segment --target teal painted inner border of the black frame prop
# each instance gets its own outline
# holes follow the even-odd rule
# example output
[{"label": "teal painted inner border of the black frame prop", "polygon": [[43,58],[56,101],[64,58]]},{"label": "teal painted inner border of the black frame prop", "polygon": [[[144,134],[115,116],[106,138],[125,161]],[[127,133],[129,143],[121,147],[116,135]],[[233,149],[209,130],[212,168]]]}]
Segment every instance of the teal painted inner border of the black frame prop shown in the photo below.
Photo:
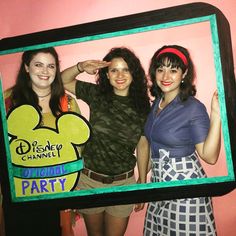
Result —
[{"label": "teal painted inner border of the black frame prop", "polygon": [[[213,183],[222,183],[228,181],[235,181],[234,175],[234,168],[233,168],[233,161],[232,161],[232,153],[230,149],[230,137],[228,131],[228,121],[227,121],[227,113],[226,113],[226,105],[225,105],[225,93],[224,93],[224,85],[223,85],[223,75],[222,75],[222,66],[221,66],[221,59],[220,59],[220,49],[219,49],[219,38],[218,38],[218,31],[217,31],[217,21],[216,15],[212,14],[209,16],[203,17],[195,17],[186,20],[179,20],[174,22],[168,22],[163,24],[156,24],[151,26],[144,26],[133,28],[129,30],[121,30],[111,33],[105,34],[98,34],[93,36],[86,36],[81,38],[75,38],[70,40],[63,40],[57,41],[52,43],[45,43],[39,44],[34,46],[27,46],[21,47],[16,49],[4,50],[0,52],[0,55],[11,54],[16,52],[21,52],[25,50],[32,50],[32,49],[39,49],[44,47],[55,47],[61,45],[68,45],[68,44],[75,44],[80,42],[87,42],[105,38],[112,38],[130,34],[137,34],[143,33],[148,31],[154,31],[159,29],[166,29],[178,26],[184,26],[189,24],[201,23],[201,22],[209,22],[211,28],[211,36],[212,36],[212,46],[214,52],[214,63],[215,63],[215,70],[216,70],[216,82],[217,82],[217,89],[219,94],[219,102],[220,102],[220,110],[221,110],[221,118],[222,118],[222,130],[223,130],[223,138],[225,142],[225,153],[226,153],[226,164],[228,169],[228,176],[218,176],[218,177],[211,177],[205,179],[191,179],[191,180],[179,180],[179,181],[171,181],[171,182],[162,182],[162,183],[146,183],[146,184],[135,184],[129,186],[118,186],[112,188],[97,188],[91,190],[80,190],[80,191],[73,191],[73,192],[66,192],[66,193],[56,193],[50,195],[40,195],[35,197],[16,197],[15,190],[14,190],[14,181],[12,176],[12,165],[11,165],[11,156],[9,150],[9,142],[8,142],[8,135],[7,135],[7,121],[5,117],[3,119],[3,128],[4,128],[4,140],[6,146],[6,155],[7,155],[7,162],[8,162],[8,170],[9,170],[9,177],[10,177],[10,189],[11,189],[11,197],[13,202],[27,202],[27,201],[37,201],[37,200],[49,200],[49,199],[56,199],[56,198],[63,198],[63,197],[78,197],[78,196],[86,196],[86,195],[93,195],[93,194],[104,194],[104,193],[113,193],[113,192],[128,192],[128,191],[135,191],[135,190],[147,190],[147,189],[156,189],[156,188],[169,188],[169,187],[178,187],[178,186],[186,186],[186,185],[199,185],[199,184],[213,184]],[[0,108],[1,114],[5,114],[5,106],[3,95],[1,92],[0,95]]]}]

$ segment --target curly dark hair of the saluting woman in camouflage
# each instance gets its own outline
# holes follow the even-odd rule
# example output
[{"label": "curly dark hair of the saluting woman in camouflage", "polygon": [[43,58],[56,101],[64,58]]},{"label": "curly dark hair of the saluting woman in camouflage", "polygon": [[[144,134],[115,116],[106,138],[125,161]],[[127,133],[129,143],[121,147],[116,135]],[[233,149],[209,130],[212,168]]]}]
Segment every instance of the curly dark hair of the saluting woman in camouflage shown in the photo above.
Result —
[{"label": "curly dark hair of the saluting woman in camouflage", "polygon": [[[111,61],[114,58],[123,58],[127,63],[133,78],[132,83],[130,84],[128,96],[131,98],[133,105],[138,112],[147,114],[150,109],[147,93],[147,77],[139,58],[133,51],[126,47],[116,47],[112,48],[103,60]],[[111,94],[113,93],[113,87],[107,78],[107,73],[108,67],[99,70],[97,84],[101,94],[106,96],[106,99],[110,99]]]}]

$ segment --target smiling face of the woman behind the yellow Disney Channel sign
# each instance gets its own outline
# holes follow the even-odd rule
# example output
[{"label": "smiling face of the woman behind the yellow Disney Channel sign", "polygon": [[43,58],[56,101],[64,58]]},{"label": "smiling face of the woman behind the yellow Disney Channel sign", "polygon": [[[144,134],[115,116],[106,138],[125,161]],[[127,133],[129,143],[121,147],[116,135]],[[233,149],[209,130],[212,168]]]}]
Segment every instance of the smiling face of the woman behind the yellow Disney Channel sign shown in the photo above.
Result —
[{"label": "smiling face of the woman behind the yellow Disney Channel sign", "polygon": [[50,53],[38,53],[25,65],[34,91],[49,89],[56,76],[56,61]]}]

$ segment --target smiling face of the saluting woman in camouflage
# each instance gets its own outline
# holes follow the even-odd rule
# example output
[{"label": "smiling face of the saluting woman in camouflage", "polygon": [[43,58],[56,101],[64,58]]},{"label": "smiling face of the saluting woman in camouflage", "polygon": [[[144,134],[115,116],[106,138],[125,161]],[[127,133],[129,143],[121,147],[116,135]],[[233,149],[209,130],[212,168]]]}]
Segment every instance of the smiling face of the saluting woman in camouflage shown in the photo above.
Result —
[{"label": "smiling face of the saluting woman in camouflage", "polygon": [[107,77],[116,95],[128,96],[129,87],[133,78],[123,58],[114,58],[111,60]]}]

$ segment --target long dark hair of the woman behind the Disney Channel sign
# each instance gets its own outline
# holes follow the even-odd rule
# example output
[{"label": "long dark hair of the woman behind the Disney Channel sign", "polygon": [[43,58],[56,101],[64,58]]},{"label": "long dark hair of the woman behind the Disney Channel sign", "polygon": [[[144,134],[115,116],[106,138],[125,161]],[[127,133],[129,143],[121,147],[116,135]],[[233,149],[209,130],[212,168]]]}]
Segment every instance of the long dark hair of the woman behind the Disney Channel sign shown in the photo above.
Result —
[{"label": "long dark hair of the woman behind the Disney Channel sign", "polygon": [[12,88],[12,104],[13,106],[29,104],[42,110],[42,108],[39,106],[38,96],[32,89],[32,81],[30,79],[29,73],[25,69],[25,65],[29,66],[32,59],[38,53],[49,53],[55,58],[56,76],[53,83],[51,84],[51,98],[49,101],[49,106],[52,114],[57,116],[62,112],[60,100],[65,95],[65,91],[61,79],[58,54],[53,47],[29,50],[22,54],[21,65],[17,75],[16,83]]}]

